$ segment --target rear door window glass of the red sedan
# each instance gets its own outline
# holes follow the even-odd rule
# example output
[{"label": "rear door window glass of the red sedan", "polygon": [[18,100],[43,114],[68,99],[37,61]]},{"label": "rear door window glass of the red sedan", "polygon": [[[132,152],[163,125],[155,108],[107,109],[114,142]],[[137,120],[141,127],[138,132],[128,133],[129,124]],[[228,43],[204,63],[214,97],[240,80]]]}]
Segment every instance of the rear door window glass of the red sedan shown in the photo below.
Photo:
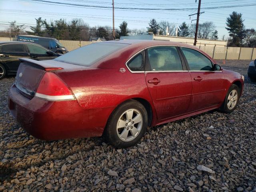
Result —
[{"label": "rear door window glass of the red sedan", "polygon": [[148,61],[152,71],[183,70],[176,47],[158,46],[148,49]]}]

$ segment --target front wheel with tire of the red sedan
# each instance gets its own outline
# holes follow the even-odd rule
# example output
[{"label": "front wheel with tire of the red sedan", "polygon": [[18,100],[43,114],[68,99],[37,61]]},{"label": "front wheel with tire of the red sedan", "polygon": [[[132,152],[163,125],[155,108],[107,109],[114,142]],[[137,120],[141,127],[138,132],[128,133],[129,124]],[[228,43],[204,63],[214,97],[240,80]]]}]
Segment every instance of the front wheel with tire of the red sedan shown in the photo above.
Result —
[{"label": "front wheel with tire of the red sedan", "polygon": [[225,101],[220,107],[220,111],[224,113],[231,113],[236,109],[239,99],[240,99],[240,89],[237,85],[232,84],[232,86],[230,86],[227,92]]}]

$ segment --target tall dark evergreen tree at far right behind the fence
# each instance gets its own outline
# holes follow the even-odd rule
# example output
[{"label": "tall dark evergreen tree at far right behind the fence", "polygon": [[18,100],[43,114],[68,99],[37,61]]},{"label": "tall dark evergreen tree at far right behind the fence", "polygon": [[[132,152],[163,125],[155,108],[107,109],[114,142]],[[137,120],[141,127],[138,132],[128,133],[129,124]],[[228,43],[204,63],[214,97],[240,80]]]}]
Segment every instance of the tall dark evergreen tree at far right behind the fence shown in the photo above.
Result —
[{"label": "tall dark evergreen tree at far right behind the fence", "polygon": [[226,30],[228,30],[229,36],[232,37],[230,46],[241,46],[244,39],[245,27],[244,20],[242,20],[242,14],[235,11],[229,15],[226,20]]}]

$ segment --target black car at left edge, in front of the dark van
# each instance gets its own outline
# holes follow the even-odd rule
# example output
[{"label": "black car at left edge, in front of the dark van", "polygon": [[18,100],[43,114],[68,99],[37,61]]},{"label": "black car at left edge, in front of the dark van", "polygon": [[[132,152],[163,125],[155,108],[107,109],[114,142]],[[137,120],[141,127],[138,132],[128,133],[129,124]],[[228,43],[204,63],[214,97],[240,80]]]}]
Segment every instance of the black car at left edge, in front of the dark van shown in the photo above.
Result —
[{"label": "black car at left edge, in front of the dark van", "polygon": [[0,42],[0,79],[4,78],[6,74],[17,73],[20,65],[19,58],[50,60],[60,55],[34,43]]}]

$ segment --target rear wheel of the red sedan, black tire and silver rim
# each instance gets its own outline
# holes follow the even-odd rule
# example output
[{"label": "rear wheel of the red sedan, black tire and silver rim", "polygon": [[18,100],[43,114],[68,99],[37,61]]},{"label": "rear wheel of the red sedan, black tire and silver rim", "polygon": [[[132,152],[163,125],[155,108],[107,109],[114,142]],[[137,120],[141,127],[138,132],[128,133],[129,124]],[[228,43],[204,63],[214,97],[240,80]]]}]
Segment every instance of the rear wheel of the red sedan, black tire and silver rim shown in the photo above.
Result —
[{"label": "rear wheel of the red sedan, black tire and silver rim", "polygon": [[145,107],[136,100],[118,106],[108,119],[104,136],[116,148],[134,146],[144,136],[148,126]]}]

